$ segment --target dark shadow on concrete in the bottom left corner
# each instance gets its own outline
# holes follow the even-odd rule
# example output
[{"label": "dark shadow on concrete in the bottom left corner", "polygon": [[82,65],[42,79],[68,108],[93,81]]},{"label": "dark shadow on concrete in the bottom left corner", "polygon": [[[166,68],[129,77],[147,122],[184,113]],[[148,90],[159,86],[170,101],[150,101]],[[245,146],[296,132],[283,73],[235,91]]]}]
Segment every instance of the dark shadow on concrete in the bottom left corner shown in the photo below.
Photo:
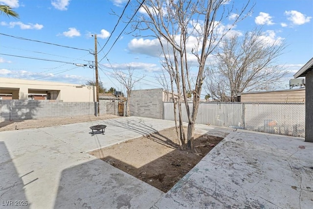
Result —
[{"label": "dark shadow on concrete in the bottom left corner", "polygon": [[5,143],[0,141],[0,208],[30,208],[22,181],[29,173],[19,176]]}]

